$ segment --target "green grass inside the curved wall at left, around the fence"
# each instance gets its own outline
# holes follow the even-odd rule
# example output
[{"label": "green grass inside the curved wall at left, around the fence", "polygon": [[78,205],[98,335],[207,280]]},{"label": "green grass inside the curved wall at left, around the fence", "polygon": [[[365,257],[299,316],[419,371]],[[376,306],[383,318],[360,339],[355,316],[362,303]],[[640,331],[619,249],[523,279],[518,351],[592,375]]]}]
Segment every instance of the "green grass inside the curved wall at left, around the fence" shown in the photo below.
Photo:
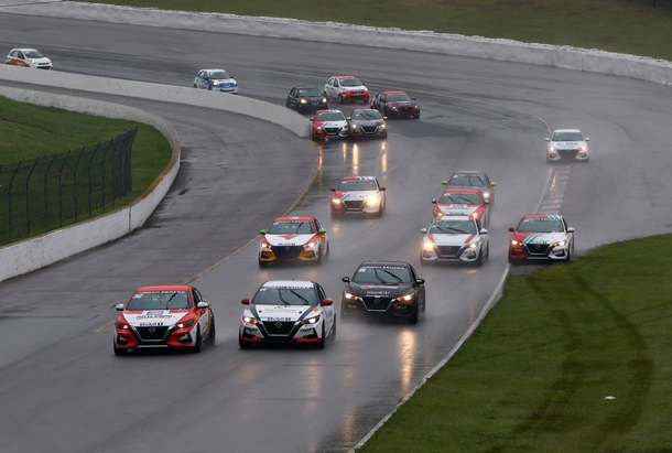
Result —
[{"label": "green grass inside the curved wall at left, around the fence", "polygon": [[[170,143],[154,128],[0,97],[0,163],[29,161],[95,145],[128,132],[136,126],[138,133],[131,158],[133,190],[115,201],[115,206],[107,205],[106,211],[109,212],[138,198],[169,163],[172,157]],[[102,212],[96,209],[94,215]],[[85,218],[80,217],[79,220]],[[74,219],[65,219],[64,224],[72,223]],[[33,233],[37,235],[44,231],[35,229]]]}]

